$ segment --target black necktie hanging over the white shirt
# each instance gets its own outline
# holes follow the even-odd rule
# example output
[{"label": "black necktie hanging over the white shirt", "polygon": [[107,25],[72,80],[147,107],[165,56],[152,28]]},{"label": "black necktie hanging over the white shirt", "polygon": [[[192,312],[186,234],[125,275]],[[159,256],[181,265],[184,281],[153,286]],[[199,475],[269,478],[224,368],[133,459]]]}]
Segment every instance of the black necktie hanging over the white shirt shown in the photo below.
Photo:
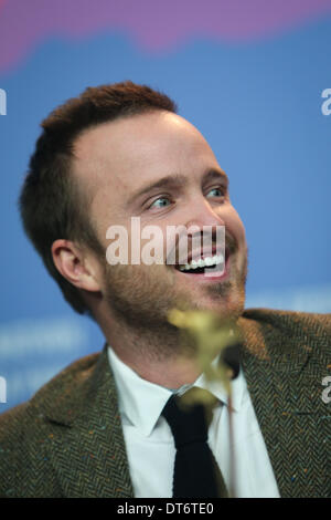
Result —
[{"label": "black necktie hanging over the white shirt", "polygon": [[[196,394],[197,388],[193,389]],[[207,392],[201,388],[199,391]],[[225,498],[226,486],[207,445],[212,409],[200,403],[183,407],[180,399],[172,395],[162,412],[177,448],[172,497]]]}]

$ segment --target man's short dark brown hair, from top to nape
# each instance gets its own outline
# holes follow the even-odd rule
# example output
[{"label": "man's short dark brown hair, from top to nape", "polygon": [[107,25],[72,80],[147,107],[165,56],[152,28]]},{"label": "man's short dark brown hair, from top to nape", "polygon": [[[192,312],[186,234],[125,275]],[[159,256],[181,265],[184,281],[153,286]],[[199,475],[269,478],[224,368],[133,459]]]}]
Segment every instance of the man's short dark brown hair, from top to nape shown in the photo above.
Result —
[{"label": "man's short dark brown hair, from top to nape", "polygon": [[177,113],[166,94],[131,81],[86,89],[65,102],[41,126],[19,198],[24,230],[64,298],[81,314],[90,314],[79,291],[57,271],[51,252],[56,239],[85,243],[100,252],[86,216],[84,193],[71,175],[75,139],[86,128],[151,111]]}]

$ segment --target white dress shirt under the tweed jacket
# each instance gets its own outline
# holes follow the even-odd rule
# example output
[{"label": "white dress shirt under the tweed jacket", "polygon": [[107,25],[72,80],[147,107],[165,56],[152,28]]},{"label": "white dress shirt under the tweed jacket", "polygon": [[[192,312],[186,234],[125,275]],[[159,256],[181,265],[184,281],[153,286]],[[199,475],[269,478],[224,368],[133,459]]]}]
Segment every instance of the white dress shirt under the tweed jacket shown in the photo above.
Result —
[{"label": "white dress shirt under the tweed jacket", "polygon": [[[118,391],[118,404],[136,498],[172,497],[175,457],[171,429],[161,412],[173,391],[142,379],[108,346]],[[217,360],[215,360],[216,362]],[[223,386],[204,374],[193,385],[209,389],[218,399],[209,428],[209,445],[229,487],[227,397]],[[177,391],[178,392],[178,391]],[[253,408],[243,371],[232,383],[235,492],[237,498],[279,497],[267,448]]]}]

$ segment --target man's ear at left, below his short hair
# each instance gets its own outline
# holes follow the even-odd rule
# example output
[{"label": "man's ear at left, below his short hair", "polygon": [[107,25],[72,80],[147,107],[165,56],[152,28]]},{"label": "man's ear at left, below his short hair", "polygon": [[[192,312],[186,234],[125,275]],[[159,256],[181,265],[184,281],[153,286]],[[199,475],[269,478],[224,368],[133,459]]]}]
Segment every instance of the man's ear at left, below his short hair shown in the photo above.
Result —
[{"label": "man's ear at left, below his short hair", "polygon": [[52,256],[58,272],[73,285],[85,291],[100,291],[99,270],[93,253],[71,240],[58,239],[52,245]]}]

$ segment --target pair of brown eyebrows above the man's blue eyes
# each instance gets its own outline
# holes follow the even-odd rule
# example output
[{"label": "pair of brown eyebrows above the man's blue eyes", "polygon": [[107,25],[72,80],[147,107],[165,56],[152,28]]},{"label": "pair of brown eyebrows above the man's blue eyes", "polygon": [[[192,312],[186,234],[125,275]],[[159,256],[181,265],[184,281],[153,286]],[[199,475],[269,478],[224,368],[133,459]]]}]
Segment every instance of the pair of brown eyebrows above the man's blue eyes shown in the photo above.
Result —
[{"label": "pair of brown eyebrows above the man's blue eyes", "polygon": [[[228,185],[228,177],[227,175],[222,170],[222,169],[216,169],[216,168],[209,168],[203,177],[202,177],[202,184],[207,181],[207,180],[222,180],[223,183],[226,184],[226,187]],[[143,195],[149,194],[150,191],[153,191],[156,189],[181,189],[185,186],[188,183],[188,177],[181,174],[173,174],[173,175],[167,175],[166,177],[160,178],[156,183],[148,184],[143,186],[139,191],[136,191],[128,200],[128,205],[132,204],[135,199],[138,197],[141,197]]]}]

